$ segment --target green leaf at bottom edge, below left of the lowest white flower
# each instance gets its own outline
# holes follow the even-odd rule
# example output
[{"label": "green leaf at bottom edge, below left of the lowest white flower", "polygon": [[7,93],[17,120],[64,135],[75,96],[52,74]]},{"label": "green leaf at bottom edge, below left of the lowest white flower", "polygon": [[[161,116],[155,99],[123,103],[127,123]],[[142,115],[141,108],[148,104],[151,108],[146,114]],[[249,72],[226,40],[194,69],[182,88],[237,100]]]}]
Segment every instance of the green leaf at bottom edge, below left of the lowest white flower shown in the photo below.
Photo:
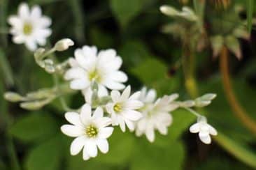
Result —
[{"label": "green leaf at bottom edge, below left of the lowest white flower", "polygon": [[27,170],[56,170],[62,159],[61,137],[57,136],[33,148],[27,155]]}]

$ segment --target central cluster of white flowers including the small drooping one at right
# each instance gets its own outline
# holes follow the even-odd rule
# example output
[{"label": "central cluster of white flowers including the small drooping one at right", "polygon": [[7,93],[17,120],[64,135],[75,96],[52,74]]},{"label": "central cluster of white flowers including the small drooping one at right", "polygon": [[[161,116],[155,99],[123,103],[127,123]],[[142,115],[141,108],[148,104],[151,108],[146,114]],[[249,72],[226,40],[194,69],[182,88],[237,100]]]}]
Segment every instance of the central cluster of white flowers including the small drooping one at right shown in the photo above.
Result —
[{"label": "central cluster of white flowers including the small drooping one at right", "polygon": [[[119,70],[122,59],[114,49],[97,52],[97,47],[85,45],[76,49],[74,56],[75,59],[69,59],[70,68],[66,70],[64,78],[70,81],[70,88],[81,91],[86,104],[80,114],[66,113],[66,120],[73,125],[63,125],[62,132],[76,137],[71,144],[72,155],[78,154],[84,147],[84,160],[97,155],[96,146],[102,153],[108,151],[106,139],[111,136],[115,126],[119,126],[122,132],[127,127],[129,131],[135,131],[138,137],[145,134],[148,141],[153,142],[155,131],[163,135],[168,133],[173,121],[171,111],[183,107],[193,112],[190,107],[204,107],[215,98],[214,94],[207,94],[196,100],[180,102],[176,101],[176,93],[157,98],[155,89],[147,91],[145,87],[131,93],[131,86],[125,87],[123,84],[127,81],[127,75]],[[192,125],[190,132],[199,132],[201,141],[210,144],[209,134],[216,135],[217,132],[206,123],[205,117],[196,116],[199,121]],[[104,140],[104,144],[99,140]]]}]

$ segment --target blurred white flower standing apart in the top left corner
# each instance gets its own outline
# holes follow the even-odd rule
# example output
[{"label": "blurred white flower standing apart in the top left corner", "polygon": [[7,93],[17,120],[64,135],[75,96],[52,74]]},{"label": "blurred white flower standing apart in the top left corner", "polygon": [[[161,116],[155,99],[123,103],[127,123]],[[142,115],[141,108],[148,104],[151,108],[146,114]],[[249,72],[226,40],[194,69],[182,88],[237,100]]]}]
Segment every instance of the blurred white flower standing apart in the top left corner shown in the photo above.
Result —
[{"label": "blurred white flower standing apart in the top left corner", "polygon": [[32,6],[31,11],[27,3],[21,3],[17,15],[8,17],[12,26],[13,42],[25,44],[27,49],[34,51],[38,45],[45,45],[46,38],[52,31],[48,28],[52,23],[49,17],[42,15],[40,6]]}]

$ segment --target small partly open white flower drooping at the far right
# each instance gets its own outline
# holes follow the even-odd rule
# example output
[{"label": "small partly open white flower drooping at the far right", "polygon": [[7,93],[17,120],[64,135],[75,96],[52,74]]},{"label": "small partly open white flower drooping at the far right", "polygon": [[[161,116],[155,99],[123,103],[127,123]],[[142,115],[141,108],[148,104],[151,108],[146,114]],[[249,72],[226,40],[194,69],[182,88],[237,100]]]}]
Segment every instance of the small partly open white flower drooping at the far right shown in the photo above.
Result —
[{"label": "small partly open white flower drooping at the far right", "polygon": [[207,123],[207,120],[204,116],[201,116],[197,119],[197,123],[194,123],[190,127],[190,132],[199,133],[199,139],[204,142],[204,144],[211,144],[211,135],[217,135],[218,132],[214,127]]}]

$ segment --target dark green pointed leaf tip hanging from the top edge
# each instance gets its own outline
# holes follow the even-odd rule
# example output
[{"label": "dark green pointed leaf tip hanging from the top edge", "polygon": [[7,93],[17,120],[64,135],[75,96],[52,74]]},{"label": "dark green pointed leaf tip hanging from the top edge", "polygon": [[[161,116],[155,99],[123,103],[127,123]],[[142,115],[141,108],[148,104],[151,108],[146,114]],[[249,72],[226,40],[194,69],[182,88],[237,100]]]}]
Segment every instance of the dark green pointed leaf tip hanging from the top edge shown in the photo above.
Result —
[{"label": "dark green pointed leaf tip hanging from the top edge", "polygon": [[145,0],[110,0],[111,9],[122,27],[129,22],[143,9]]}]

